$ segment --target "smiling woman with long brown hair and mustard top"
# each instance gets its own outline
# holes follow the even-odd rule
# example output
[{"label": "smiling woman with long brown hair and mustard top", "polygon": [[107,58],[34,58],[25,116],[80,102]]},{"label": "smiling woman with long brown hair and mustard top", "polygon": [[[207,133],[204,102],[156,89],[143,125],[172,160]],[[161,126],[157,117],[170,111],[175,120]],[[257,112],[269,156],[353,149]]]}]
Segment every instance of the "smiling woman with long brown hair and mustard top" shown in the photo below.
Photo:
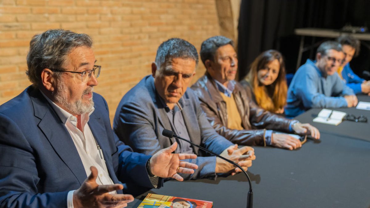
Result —
[{"label": "smiling woman with long brown hair and mustard top", "polygon": [[260,54],[240,83],[260,107],[273,113],[284,113],[287,84],[285,64],[279,51],[268,50]]}]

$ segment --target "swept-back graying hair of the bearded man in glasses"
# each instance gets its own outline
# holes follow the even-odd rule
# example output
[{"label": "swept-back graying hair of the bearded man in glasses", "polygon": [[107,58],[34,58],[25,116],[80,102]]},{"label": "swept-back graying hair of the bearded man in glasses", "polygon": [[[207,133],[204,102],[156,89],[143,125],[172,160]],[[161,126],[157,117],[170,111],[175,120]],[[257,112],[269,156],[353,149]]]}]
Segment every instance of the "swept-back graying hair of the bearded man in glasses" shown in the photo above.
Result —
[{"label": "swept-back graying hair of the bearded man in glasses", "polygon": [[[79,46],[91,48],[91,37],[63,29],[47,30],[33,36],[30,41],[30,51],[27,54],[28,79],[35,87],[39,87],[42,70],[61,69],[66,55]],[[55,74],[60,76],[58,73]]]}]

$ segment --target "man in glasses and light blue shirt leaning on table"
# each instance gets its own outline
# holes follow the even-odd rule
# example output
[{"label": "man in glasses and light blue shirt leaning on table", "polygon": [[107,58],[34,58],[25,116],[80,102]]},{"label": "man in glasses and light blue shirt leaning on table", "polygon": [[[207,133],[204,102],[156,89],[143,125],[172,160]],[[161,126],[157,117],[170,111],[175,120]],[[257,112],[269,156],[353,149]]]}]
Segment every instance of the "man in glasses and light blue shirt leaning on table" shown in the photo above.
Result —
[{"label": "man in glasses and light blue shirt leaning on table", "polygon": [[345,56],[336,41],[322,43],[316,61],[307,60],[289,85],[285,114],[295,117],[310,108],[342,108],[357,105],[357,97],[343,83],[337,69]]}]

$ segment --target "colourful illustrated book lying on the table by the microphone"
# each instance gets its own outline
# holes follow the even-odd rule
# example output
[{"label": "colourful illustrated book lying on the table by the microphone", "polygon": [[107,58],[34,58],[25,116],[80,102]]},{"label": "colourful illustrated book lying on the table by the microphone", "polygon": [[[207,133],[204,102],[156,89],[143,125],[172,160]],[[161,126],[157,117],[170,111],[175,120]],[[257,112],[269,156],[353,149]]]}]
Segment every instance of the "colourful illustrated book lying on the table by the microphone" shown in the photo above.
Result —
[{"label": "colourful illustrated book lying on the table by the microphone", "polygon": [[148,194],[138,208],[211,208],[213,202]]}]

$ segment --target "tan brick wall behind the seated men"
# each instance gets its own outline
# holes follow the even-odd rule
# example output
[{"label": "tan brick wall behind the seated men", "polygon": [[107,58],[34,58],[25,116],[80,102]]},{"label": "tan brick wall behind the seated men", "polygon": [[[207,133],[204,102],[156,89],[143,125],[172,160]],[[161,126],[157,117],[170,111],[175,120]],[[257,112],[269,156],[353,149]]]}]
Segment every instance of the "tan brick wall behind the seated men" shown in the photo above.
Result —
[{"label": "tan brick wall behind the seated men", "polygon": [[[95,91],[111,119],[122,96],[151,73],[160,43],[184,38],[199,52],[203,40],[220,34],[215,0],[0,0],[0,104],[30,85],[29,41],[50,28],[92,36],[102,66]],[[200,63],[193,82],[204,71]]]}]

